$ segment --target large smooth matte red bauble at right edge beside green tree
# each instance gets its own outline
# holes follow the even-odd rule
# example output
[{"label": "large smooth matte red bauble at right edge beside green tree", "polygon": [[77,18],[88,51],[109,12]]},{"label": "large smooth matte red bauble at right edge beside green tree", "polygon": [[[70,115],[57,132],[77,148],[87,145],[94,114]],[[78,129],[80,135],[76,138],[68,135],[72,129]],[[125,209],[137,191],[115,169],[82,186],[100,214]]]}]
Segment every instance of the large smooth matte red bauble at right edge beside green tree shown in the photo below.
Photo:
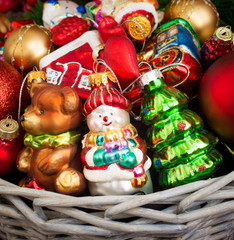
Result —
[{"label": "large smooth matte red bauble at right edge beside green tree", "polygon": [[234,145],[234,52],[216,60],[205,72],[199,98],[211,128],[225,142]]}]

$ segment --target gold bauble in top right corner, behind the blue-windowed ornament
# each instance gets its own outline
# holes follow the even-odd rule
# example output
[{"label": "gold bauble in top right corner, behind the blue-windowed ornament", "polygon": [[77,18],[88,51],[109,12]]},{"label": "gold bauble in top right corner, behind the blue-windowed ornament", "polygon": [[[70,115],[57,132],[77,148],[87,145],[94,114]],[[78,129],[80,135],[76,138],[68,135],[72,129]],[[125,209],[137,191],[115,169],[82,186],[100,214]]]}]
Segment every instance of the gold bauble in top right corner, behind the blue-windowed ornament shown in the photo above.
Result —
[{"label": "gold bauble in top right corner, behind the blue-windowed ornament", "polygon": [[167,6],[164,22],[183,18],[193,27],[202,44],[219,26],[219,14],[210,0],[172,0]]}]

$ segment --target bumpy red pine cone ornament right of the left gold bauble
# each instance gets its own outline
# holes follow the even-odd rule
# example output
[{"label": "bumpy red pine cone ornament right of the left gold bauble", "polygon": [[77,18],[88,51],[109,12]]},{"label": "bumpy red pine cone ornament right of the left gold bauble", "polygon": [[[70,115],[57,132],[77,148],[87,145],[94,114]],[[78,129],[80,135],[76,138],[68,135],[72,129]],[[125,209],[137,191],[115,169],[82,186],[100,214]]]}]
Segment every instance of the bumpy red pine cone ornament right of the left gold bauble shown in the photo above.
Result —
[{"label": "bumpy red pine cone ornament right of the left gold bauble", "polygon": [[52,30],[53,41],[56,45],[63,46],[80,37],[88,30],[88,24],[83,18],[77,16],[67,17]]}]

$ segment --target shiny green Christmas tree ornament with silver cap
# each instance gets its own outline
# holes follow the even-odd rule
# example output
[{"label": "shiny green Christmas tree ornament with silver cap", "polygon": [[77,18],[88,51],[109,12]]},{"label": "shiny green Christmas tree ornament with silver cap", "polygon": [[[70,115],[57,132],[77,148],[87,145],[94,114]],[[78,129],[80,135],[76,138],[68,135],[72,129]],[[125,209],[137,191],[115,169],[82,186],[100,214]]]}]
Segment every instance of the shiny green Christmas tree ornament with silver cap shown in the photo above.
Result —
[{"label": "shiny green Christmas tree ornament with silver cap", "polygon": [[144,88],[141,118],[149,125],[146,133],[159,183],[173,187],[209,177],[222,162],[214,148],[218,139],[203,129],[202,119],[188,109],[188,98],[167,86],[154,69],[141,77]]}]

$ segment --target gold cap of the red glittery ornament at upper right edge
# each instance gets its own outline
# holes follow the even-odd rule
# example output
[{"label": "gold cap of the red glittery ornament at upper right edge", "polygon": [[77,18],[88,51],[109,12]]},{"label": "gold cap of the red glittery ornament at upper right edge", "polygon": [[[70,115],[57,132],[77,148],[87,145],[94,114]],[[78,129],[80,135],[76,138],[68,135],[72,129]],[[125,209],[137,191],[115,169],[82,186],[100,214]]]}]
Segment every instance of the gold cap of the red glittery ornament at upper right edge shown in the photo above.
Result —
[{"label": "gold cap of the red glittery ornament at upper right edge", "polygon": [[220,40],[220,44],[229,45],[232,43],[233,34],[231,30],[231,26],[219,27],[214,32],[215,40]]}]

